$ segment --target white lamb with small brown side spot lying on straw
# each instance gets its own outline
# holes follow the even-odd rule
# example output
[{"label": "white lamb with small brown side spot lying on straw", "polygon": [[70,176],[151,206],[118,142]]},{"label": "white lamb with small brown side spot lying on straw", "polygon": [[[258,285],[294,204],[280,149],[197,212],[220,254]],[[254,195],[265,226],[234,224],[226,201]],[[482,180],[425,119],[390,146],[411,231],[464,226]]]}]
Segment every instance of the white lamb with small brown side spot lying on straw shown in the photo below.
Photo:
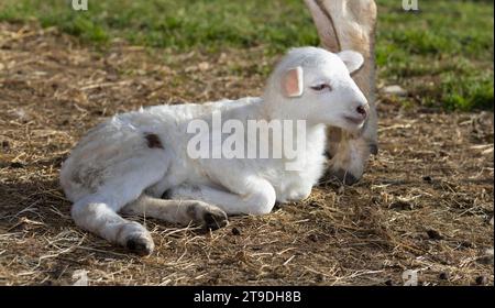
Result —
[{"label": "white lamb with small brown side spot lying on straw", "polygon": [[[265,215],[276,201],[305,199],[324,169],[326,125],[358,132],[367,117],[366,98],[350,75],[362,65],[361,54],[352,51],[295,48],[277,65],[261,98],[157,106],[101,123],[62,167],[76,224],[146,255],[154,248],[150,233],[119,211],[217,229],[228,223],[227,215]],[[287,169],[285,156],[191,158],[188,142],[197,136],[188,125],[198,119],[211,123],[213,112],[223,123],[305,120],[302,155],[290,160],[298,168]]]}]

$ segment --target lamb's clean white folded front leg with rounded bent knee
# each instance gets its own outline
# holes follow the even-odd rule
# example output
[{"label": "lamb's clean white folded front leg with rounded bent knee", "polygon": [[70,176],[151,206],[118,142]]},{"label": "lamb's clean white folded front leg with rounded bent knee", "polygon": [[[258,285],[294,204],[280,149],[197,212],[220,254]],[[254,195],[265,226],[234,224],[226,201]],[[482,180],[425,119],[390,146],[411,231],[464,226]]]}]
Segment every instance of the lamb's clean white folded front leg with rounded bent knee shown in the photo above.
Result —
[{"label": "lamb's clean white folded front leg with rounded bent knee", "polygon": [[170,199],[194,199],[218,206],[228,215],[265,215],[275,206],[272,184],[262,178],[249,178],[224,190],[206,185],[182,185],[168,191]]}]

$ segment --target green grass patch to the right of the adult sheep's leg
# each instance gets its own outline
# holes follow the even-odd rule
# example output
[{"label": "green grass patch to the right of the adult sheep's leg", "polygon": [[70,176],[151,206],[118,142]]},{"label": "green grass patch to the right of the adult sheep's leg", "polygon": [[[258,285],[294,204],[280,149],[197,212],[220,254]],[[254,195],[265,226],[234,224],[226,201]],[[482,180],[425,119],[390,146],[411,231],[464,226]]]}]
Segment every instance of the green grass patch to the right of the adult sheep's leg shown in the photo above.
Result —
[{"label": "green grass patch to the right of the adult sheep's leg", "polygon": [[493,2],[419,0],[418,13],[377,2],[382,78],[406,85],[426,106],[493,110]]}]

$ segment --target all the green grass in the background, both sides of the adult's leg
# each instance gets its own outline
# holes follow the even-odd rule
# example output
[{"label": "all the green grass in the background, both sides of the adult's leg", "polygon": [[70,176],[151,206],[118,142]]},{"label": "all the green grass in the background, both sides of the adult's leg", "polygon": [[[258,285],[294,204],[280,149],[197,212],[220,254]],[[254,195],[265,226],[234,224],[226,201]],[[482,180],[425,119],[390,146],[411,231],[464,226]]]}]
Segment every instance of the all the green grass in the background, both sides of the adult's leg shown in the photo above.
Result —
[{"label": "all the green grass in the background, both sides of the adult's leg", "polygon": [[[124,37],[175,52],[261,45],[274,55],[319,42],[302,0],[88,0],[87,12],[69,2],[2,0],[0,20],[36,19],[99,46]],[[493,2],[419,0],[417,13],[402,0],[376,2],[380,77],[410,91],[405,103],[493,110]]]}]

